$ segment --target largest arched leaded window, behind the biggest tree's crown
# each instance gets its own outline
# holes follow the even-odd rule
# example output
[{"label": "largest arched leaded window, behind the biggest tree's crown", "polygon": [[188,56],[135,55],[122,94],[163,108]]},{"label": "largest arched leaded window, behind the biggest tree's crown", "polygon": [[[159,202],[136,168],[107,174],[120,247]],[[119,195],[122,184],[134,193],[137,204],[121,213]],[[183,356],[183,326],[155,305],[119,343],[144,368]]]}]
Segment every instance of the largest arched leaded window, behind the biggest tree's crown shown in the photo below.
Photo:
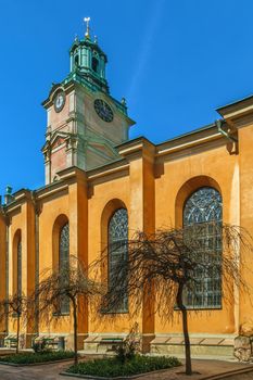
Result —
[{"label": "largest arched leaded window, behind the biggest tree's crown", "polygon": [[[198,241],[200,255],[206,266],[197,266],[194,284],[185,294],[185,304],[193,308],[219,308],[222,306],[222,230],[223,200],[220,193],[211,187],[194,191],[184,207],[184,229]],[[201,250],[204,246],[204,250]],[[208,267],[215,264],[215,275]],[[220,268],[222,269],[222,268]],[[212,275],[211,275],[212,274]],[[194,288],[193,288],[194,287]]]}]

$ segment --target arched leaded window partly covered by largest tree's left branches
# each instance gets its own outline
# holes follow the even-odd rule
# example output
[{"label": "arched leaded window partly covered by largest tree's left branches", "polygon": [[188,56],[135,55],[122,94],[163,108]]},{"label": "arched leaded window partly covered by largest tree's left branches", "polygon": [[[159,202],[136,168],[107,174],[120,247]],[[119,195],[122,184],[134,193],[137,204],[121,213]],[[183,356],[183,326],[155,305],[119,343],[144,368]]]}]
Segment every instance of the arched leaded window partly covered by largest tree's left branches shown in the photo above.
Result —
[{"label": "arched leaded window partly covered by largest tree's left branches", "polygon": [[[118,208],[109,221],[109,289],[116,284],[113,281],[113,274],[117,270],[119,262],[127,259],[128,240],[128,216],[126,208]],[[123,289],[122,304],[114,313],[126,313],[128,311],[128,295]]]}]

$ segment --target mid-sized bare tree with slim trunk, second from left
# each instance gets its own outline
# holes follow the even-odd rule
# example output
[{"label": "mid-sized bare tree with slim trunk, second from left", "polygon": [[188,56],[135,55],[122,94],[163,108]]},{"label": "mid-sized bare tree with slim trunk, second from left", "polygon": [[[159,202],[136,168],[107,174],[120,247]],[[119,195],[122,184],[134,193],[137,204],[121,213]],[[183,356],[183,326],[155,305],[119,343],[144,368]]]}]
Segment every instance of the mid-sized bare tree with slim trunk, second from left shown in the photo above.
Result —
[{"label": "mid-sized bare tree with slim trunk, second from left", "polygon": [[83,262],[71,256],[62,265],[61,270],[47,269],[41,274],[37,290],[39,296],[37,313],[40,319],[51,320],[61,315],[62,308],[68,303],[72,306],[74,329],[74,353],[75,364],[78,363],[77,355],[77,330],[78,330],[78,306],[80,299],[96,300],[103,294],[103,287],[88,278],[87,269]]}]

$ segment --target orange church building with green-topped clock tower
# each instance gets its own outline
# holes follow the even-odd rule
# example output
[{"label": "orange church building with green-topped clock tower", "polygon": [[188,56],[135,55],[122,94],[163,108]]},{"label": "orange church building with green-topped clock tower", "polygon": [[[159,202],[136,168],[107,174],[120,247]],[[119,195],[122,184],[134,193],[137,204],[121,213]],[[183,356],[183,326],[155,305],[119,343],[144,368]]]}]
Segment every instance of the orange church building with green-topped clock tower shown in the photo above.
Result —
[{"label": "orange church building with green-topped clock tower", "polygon": [[[136,230],[223,221],[253,235],[253,97],[219,107],[218,122],[162,143],[130,140],[135,122],[125,99],[110,93],[107,56],[89,26],[84,39],[75,38],[69,61],[69,74],[42,103],[45,186],[15,193],[8,188],[0,207],[0,299],[30,295],[46,268],[61,268],[68,255],[89,265],[111,239],[126,239]],[[109,253],[109,281],[115,259]],[[241,259],[248,259],[244,252]],[[253,276],[246,280],[253,286]],[[189,308],[199,311],[189,316],[192,353],[231,356],[241,326],[253,325],[253,306],[241,290],[226,303],[222,281],[206,281],[197,304],[187,300]],[[36,335],[64,337],[65,346],[73,347],[69,305],[61,312],[55,322],[34,318],[22,325],[27,347]],[[116,314],[100,319],[85,305],[78,349],[104,352],[102,339],[124,338],[138,322],[144,352],[182,352],[177,309],[172,321],[164,321],[150,316],[146,300],[135,319],[127,302]],[[15,331],[15,315],[1,320],[1,337]]]}]

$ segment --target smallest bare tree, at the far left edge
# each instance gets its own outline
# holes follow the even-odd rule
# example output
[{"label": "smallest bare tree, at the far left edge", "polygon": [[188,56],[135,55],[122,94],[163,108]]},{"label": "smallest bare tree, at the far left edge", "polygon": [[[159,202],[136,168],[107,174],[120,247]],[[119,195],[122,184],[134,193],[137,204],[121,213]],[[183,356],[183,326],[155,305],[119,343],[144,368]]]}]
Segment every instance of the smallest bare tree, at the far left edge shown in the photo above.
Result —
[{"label": "smallest bare tree, at the far left edge", "polygon": [[24,294],[10,295],[9,299],[0,302],[0,319],[9,317],[16,318],[16,354],[20,349],[21,320],[27,320],[29,308],[33,307],[30,301]]}]

